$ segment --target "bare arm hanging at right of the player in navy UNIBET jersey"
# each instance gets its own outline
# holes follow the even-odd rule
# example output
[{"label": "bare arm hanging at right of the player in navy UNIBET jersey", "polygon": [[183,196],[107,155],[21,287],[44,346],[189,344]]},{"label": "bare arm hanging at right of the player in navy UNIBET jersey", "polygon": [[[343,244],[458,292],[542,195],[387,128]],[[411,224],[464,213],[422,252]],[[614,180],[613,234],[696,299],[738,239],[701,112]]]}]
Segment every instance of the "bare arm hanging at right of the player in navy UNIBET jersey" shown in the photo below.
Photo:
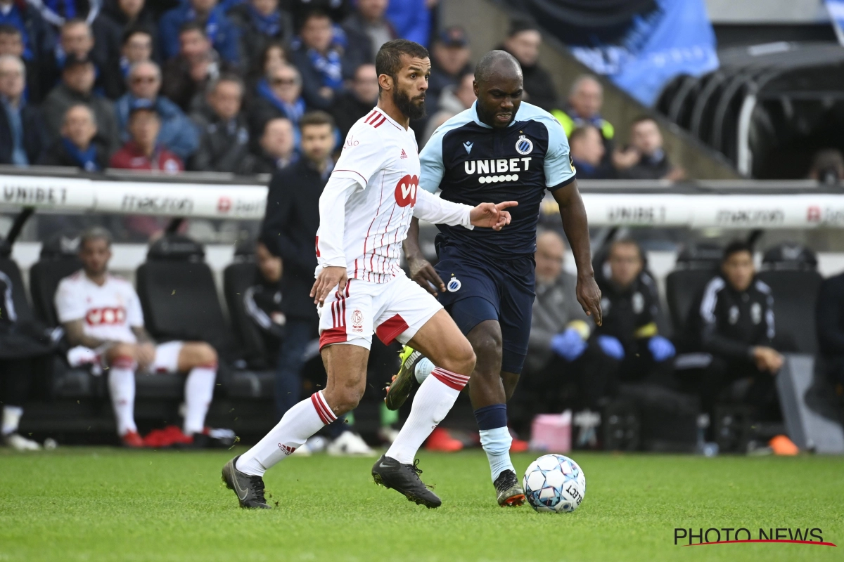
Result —
[{"label": "bare arm hanging at right of the player in navy UNIBET jersey", "polygon": [[589,225],[586,217],[586,207],[580,191],[577,190],[577,180],[551,192],[555,201],[560,205],[560,218],[563,219],[563,230],[571,244],[571,253],[575,255],[577,265],[577,302],[583,311],[595,319],[600,326],[603,321],[601,313],[601,290],[595,282],[595,272],[592,271],[592,252],[589,248]]}]

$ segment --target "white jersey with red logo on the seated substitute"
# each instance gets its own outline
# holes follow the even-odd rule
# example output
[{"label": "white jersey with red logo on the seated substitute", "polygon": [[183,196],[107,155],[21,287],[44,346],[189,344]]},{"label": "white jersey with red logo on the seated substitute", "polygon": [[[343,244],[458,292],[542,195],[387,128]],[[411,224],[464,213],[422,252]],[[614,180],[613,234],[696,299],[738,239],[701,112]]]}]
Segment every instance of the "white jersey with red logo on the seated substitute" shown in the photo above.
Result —
[{"label": "white jersey with red logo on the seated substitute", "polygon": [[141,302],[129,281],[108,275],[100,286],[84,270],[59,282],[56,312],[62,324],[82,319],[85,335],[100,340],[133,344],[132,327],[143,326]]}]

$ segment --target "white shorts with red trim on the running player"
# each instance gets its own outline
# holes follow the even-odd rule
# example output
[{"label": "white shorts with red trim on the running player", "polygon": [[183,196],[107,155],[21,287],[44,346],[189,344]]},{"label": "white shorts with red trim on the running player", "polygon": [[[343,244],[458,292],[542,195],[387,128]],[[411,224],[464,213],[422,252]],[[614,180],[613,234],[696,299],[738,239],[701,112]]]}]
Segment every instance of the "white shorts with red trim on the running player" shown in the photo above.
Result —
[{"label": "white shorts with red trim on the running player", "polygon": [[387,283],[349,279],[344,291],[335,287],[317,308],[320,349],[332,344],[372,344],[373,332],[385,344],[408,343],[442,305],[402,274]]}]

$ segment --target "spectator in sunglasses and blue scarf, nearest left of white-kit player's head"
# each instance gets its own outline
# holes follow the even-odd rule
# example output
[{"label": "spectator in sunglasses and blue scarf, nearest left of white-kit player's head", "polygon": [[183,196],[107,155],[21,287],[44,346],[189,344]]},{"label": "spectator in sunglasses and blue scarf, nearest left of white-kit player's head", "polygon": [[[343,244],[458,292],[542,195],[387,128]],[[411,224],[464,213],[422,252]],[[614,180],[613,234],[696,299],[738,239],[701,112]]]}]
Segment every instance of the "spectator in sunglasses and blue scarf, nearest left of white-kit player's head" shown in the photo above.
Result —
[{"label": "spectator in sunglasses and blue scarf, nearest left of white-kit player's head", "polygon": [[284,117],[294,127],[299,123],[302,115],[305,115],[305,101],[301,92],[302,78],[299,71],[289,64],[270,67],[266,78],[258,81],[248,117],[254,150],[257,151],[257,143],[269,120]]}]

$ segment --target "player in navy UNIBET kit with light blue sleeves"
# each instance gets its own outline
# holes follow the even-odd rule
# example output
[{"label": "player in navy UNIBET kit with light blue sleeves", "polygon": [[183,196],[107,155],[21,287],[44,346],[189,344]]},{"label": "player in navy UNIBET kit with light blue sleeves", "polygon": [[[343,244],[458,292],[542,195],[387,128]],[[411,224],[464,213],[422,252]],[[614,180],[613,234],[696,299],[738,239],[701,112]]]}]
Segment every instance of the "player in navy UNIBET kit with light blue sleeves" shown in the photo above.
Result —
[{"label": "player in navy UNIBET kit with light blue sleeves", "polygon": [[[501,232],[440,225],[435,270],[419,250],[419,222],[414,219],[404,251],[414,281],[437,294],[473,346],[478,359],[469,395],[481,445],[490,460],[499,505],[519,506],[524,493],[510,461],[506,401],[527,354],[533,253],[546,189],[560,204],[574,253],[577,300],[598,325],[601,293],[592,272],[586,211],[560,122],[522,103],[522,69],[504,51],[490,51],[480,60],[474,91],[478,101],[473,107],[440,126],[419,154],[419,187],[442,190],[443,199],[469,205],[518,201],[511,209],[511,224]],[[402,359],[402,369],[387,392],[391,409],[403,404],[413,381],[419,382],[432,367],[410,348]]]}]

